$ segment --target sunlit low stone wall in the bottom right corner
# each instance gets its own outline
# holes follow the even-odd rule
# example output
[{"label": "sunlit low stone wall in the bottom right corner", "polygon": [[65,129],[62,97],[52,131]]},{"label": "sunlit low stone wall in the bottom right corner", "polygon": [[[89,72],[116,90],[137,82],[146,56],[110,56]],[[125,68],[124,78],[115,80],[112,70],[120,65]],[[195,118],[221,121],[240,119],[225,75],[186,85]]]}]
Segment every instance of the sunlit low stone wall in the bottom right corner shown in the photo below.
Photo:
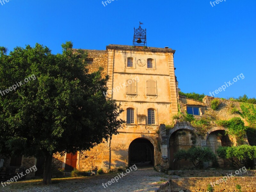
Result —
[{"label": "sunlit low stone wall in the bottom right corner", "polygon": [[[225,191],[233,192],[239,191],[236,189],[236,185],[241,186],[241,190],[256,192],[255,180],[256,177],[232,177],[226,182],[214,184],[217,180],[223,179],[222,177],[183,177],[179,179],[171,179],[170,186],[172,192],[179,192],[183,190],[184,192],[205,192],[208,184],[211,184],[214,191]],[[221,180],[220,180],[221,181]],[[223,181],[223,180],[222,180]]]}]

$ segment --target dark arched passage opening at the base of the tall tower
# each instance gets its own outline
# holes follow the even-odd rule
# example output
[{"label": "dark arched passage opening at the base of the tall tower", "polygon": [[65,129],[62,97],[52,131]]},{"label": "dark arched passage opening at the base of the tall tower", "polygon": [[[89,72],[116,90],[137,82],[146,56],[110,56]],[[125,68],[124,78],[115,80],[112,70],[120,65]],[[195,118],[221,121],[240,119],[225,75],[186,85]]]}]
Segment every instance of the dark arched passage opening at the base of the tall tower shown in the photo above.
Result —
[{"label": "dark arched passage opening at the base of the tall tower", "polygon": [[154,166],[155,148],[150,140],[137,138],[131,142],[128,151],[128,164],[138,167]]}]

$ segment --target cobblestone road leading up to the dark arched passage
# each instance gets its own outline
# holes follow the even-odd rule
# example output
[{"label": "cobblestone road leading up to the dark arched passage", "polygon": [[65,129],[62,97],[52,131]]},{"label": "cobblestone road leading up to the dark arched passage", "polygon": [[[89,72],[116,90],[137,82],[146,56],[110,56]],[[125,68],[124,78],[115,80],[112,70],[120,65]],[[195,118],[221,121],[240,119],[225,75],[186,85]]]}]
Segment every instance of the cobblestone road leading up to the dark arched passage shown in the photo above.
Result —
[{"label": "cobblestone road leading up to the dark arched passage", "polygon": [[[124,172],[125,174],[125,172]],[[158,173],[154,170],[136,170],[127,173],[118,182],[112,183],[104,188],[102,183],[107,183],[117,176],[117,173],[90,176],[82,179],[60,180],[56,183],[53,180],[51,186],[42,186],[40,182],[17,182],[11,183],[6,187],[1,185],[0,192],[154,192],[163,183],[168,180],[168,176]],[[158,182],[158,183],[157,183]]]}]

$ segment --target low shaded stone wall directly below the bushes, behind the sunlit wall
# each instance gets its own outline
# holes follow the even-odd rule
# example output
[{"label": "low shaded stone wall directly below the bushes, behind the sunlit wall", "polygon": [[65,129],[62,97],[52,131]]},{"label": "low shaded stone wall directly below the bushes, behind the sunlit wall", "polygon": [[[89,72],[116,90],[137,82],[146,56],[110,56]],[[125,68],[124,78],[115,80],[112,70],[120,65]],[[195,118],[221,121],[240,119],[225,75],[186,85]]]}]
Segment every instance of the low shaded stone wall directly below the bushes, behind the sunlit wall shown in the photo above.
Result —
[{"label": "low shaded stone wall directly below the bushes, behind the sunlit wall", "polygon": [[[238,173],[239,172],[239,173]],[[238,173],[238,174],[237,174]],[[232,174],[232,176],[242,176],[242,177],[256,177],[256,170],[246,170],[244,172],[242,169],[239,170],[192,170],[192,171],[168,171],[168,175],[178,175],[180,177],[216,177],[216,176],[226,176]]]}]

